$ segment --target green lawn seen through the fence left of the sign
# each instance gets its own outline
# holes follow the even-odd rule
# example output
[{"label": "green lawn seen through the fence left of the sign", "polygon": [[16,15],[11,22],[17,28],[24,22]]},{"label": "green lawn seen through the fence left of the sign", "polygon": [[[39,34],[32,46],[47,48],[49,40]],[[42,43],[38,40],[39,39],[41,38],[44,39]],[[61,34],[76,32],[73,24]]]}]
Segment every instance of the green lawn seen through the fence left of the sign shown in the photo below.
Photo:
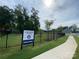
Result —
[{"label": "green lawn seen through the fence left of the sign", "polygon": [[[20,34],[10,34],[8,37],[8,46],[16,46],[20,45],[21,35]],[[0,39],[0,47],[5,47],[6,44],[6,36]]]}]

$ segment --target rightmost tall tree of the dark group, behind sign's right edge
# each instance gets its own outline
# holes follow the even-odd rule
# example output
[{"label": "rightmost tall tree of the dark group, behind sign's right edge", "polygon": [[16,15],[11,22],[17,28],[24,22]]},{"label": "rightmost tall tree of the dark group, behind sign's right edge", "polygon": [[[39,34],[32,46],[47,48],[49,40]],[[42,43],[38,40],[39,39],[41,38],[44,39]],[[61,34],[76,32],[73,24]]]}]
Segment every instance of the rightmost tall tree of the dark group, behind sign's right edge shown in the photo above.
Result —
[{"label": "rightmost tall tree of the dark group, behind sign's right edge", "polygon": [[31,14],[30,19],[33,22],[33,27],[34,27],[35,33],[37,33],[37,31],[39,30],[39,27],[40,27],[38,10],[35,10],[35,8],[32,8],[31,12],[32,12],[32,14]]}]

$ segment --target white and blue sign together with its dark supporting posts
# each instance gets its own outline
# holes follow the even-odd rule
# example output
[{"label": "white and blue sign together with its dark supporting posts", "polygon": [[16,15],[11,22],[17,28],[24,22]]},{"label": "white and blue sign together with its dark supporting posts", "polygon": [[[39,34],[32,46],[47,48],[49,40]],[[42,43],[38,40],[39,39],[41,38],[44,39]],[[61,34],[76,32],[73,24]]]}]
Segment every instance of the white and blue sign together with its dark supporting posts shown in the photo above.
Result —
[{"label": "white and blue sign together with its dark supporting posts", "polygon": [[34,31],[33,30],[24,30],[22,33],[22,40],[21,40],[21,49],[23,48],[23,45],[27,44],[33,44],[34,46]]}]

